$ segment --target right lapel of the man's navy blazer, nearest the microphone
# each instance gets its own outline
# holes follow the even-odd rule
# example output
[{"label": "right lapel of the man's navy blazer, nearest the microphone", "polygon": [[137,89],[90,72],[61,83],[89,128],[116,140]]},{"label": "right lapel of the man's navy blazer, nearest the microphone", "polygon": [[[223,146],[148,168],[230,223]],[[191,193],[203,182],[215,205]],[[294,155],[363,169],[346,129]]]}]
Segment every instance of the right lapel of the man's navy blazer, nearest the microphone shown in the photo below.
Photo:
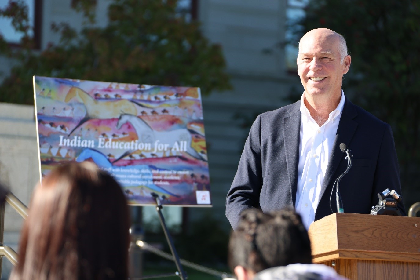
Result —
[{"label": "right lapel of the man's navy blazer, nearest the microphone", "polygon": [[340,144],[344,143],[349,145],[350,141],[352,140],[354,132],[357,128],[357,122],[353,120],[356,115],[357,112],[353,103],[346,99],[343,112],[341,113],[339,127],[337,128],[336,137],[334,139],[331,157],[328,161],[327,170],[325,171],[325,178],[321,186],[320,197],[323,196],[327,187],[336,179],[333,178],[333,175],[336,172],[341,159],[345,156],[344,153],[341,152]]}]

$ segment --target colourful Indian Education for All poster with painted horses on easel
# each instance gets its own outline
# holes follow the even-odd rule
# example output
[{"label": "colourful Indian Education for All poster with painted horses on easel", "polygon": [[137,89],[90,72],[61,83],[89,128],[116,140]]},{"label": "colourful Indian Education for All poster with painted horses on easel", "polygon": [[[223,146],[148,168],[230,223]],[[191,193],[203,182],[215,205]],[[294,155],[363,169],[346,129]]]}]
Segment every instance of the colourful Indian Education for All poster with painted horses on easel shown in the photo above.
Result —
[{"label": "colourful Indian Education for All poster with painted horses on easel", "polygon": [[211,206],[200,89],[34,76],[41,177],[95,162],[132,205]]}]

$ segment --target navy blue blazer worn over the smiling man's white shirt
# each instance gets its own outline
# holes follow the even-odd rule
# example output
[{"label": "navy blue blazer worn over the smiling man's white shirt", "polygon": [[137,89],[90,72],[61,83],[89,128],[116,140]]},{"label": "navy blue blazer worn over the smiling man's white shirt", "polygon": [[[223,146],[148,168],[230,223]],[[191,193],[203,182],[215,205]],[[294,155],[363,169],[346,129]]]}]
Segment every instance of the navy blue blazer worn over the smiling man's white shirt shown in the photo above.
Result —
[{"label": "navy blue blazer worn over the smiling man's white shirt", "polygon": [[[295,207],[299,163],[300,100],[262,113],[249,131],[232,186],[226,217],[236,228],[239,214],[256,207],[267,212]],[[391,126],[346,98],[331,158],[321,186],[315,220],[332,214],[330,194],[336,178],[347,168],[339,145],[352,150],[352,168],[340,181],[344,212],[369,214],[386,188],[401,194],[399,165]],[[398,204],[406,215],[402,202]],[[331,208],[336,212],[335,189]]]}]

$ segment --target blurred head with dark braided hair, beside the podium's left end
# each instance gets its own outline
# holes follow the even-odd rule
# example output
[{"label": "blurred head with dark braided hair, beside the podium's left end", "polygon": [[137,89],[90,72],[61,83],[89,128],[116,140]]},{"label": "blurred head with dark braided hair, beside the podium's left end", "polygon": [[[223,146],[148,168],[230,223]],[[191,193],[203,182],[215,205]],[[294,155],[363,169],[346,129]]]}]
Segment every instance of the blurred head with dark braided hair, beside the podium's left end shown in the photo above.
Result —
[{"label": "blurred head with dark braided hair, beside the podium's left end", "polygon": [[289,209],[244,210],[230,236],[228,262],[239,280],[270,267],[310,264],[310,240],[301,217]]}]

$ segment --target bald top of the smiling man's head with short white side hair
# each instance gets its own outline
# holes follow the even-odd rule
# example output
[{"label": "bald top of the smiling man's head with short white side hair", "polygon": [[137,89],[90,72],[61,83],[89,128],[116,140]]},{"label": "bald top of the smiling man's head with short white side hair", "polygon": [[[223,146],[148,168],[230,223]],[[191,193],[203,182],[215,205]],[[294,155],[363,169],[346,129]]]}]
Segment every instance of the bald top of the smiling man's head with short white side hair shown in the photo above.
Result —
[{"label": "bald top of the smiling man's head with short white side hair", "polygon": [[335,44],[337,44],[340,52],[341,64],[344,62],[344,58],[346,57],[346,55],[348,55],[347,44],[343,35],[331,29],[317,28],[308,31],[306,34],[303,35],[303,37],[299,41],[299,53],[302,42],[304,42],[305,44],[315,44],[317,42],[334,42]]}]

